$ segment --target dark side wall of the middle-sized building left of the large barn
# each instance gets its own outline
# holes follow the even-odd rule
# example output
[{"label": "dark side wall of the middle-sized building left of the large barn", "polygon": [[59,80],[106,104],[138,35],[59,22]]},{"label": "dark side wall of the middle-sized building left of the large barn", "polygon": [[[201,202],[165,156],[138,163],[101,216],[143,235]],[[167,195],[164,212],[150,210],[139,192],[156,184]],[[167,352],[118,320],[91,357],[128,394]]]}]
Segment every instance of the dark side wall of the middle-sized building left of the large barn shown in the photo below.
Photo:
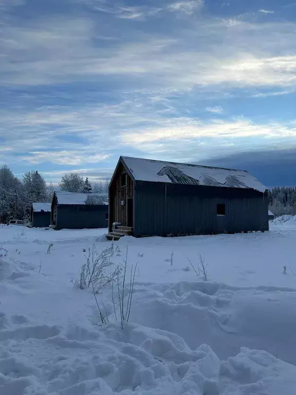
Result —
[{"label": "dark side wall of the middle-sized building left of the large barn", "polygon": [[108,205],[58,204],[57,229],[105,228]]}]

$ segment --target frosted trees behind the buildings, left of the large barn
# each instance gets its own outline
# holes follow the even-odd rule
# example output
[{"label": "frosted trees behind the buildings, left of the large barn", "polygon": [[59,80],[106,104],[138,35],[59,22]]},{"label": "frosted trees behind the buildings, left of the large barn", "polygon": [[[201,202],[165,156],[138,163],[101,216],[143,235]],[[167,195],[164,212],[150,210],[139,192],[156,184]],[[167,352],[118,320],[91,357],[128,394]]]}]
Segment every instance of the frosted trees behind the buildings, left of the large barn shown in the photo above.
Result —
[{"label": "frosted trees behind the buildings, left of the large barn", "polygon": [[[84,179],[77,173],[66,173],[59,189],[68,192],[107,193],[108,185],[108,180],[91,185],[88,177]],[[31,204],[51,202],[54,189],[57,188],[52,183],[46,184],[44,177],[36,170],[26,172],[19,179],[7,165],[1,166],[0,223],[8,223],[12,219],[29,221]]]}]

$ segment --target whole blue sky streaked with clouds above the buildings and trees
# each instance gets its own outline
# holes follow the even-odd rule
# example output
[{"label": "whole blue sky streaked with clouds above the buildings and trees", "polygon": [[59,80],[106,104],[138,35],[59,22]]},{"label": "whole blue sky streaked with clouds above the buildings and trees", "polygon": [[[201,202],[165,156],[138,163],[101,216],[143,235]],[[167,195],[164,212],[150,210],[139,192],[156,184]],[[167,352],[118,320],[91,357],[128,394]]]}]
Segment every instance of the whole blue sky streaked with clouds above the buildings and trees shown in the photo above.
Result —
[{"label": "whole blue sky streaked with clouds above the buildings and trees", "polygon": [[292,185],[295,103],[296,2],[0,0],[0,164],[15,174],[97,181],[130,155]]}]

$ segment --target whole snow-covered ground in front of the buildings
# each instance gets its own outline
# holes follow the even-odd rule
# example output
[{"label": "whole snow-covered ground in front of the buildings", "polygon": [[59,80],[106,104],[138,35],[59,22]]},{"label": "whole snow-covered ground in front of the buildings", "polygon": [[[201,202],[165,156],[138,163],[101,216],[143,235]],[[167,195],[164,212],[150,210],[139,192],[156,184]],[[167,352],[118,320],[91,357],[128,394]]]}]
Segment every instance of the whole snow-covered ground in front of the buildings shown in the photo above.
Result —
[{"label": "whole snow-covered ground in front of the buildings", "polygon": [[114,242],[114,267],[128,245],[125,305],[138,263],[123,329],[110,285],[98,326],[93,290],[75,283],[88,248],[112,246],[104,233],[0,227],[1,395],[295,395],[294,217],[265,233]]}]

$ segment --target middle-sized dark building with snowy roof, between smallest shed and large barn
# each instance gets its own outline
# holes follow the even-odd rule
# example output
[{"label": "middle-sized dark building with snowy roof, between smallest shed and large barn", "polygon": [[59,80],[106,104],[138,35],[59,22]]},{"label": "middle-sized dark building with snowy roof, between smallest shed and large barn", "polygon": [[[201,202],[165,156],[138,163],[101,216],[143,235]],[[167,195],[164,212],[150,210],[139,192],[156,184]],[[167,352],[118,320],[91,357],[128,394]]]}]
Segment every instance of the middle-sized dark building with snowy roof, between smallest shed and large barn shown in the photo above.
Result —
[{"label": "middle-sized dark building with snowy roof, between smallest shed and large barn", "polygon": [[51,225],[55,229],[107,227],[108,196],[55,191],[51,203]]}]

